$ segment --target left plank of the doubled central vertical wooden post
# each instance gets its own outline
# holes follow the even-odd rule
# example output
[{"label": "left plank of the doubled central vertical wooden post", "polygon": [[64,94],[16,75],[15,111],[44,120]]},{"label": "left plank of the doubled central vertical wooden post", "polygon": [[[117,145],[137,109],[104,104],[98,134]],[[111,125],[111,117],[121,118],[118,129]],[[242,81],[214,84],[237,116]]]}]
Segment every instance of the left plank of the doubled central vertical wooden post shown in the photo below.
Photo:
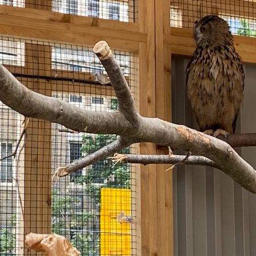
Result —
[{"label": "left plank of the doubled central vertical wooden post", "polygon": [[[147,43],[139,43],[140,113],[156,116],[155,104],[155,1],[139,1],[140,31]],[[156,146],[141,143],[141,154],[156,154]],[[156,165],[141,166],[141,255],[158,255]]]}]

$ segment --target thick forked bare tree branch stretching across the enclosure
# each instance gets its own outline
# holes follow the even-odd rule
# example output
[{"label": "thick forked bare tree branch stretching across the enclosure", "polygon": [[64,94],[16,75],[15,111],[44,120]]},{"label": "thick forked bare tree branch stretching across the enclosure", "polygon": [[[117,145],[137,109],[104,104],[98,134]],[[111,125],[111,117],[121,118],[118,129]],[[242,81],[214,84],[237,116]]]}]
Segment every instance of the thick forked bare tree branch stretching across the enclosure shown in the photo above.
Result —
[{"label": "thick forked bare tree branch stretching across the enclosure", "polygon": [[[255,142],[255,134],[232,134],[226,139],[231,144],[230,146],[220,139],[183,125],[175,125],[159,118],[142,117],[135,108],[129,86],[108,44],[97,43],[94,46],[94,52],[104,65],[118,99],[118,109],[112,113],[80,109],[57,98],[32,92],[20,84],[6,68],[0,66],[0,100],[20,114],[60,123],[75,131],[119,135],[117,141],[101,150],[73,162],[62,170],[60,168],[58,176],[65,176],[80,170],[132,143],[152,142],[191,151],[193,155],[199,156],[189,156],[184,164],[205,164],[218,167],[242,187],[256,193],[254,168],[232,148],[232,143],[234,146],[239,146],[238,141],[241,143],[240,146],[253,146],[248,142],[253,139]],[[174,160],[173,163],[178,163],[180,158],[185,158],[185,156],[162,156],[161,160],[159,156],[150,156],[151,160],[147,157],[144,163],[166,163],[168,157]],[[137,156],[137,162],[142,163],[143,158],[145,159],[144,156]]]}]

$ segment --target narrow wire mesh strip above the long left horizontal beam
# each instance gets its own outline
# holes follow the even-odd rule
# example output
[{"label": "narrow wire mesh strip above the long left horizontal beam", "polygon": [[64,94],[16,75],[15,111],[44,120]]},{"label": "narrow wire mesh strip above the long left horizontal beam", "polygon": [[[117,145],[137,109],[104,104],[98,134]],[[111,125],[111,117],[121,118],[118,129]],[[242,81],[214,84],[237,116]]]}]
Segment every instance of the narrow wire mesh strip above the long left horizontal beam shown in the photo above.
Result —
[{"label": "narrow wire mesh strip above the long left horizontal beam", "polygon": [[0,0],[0,5],[49,10],[57,13],[134,22],[133,0]]}]

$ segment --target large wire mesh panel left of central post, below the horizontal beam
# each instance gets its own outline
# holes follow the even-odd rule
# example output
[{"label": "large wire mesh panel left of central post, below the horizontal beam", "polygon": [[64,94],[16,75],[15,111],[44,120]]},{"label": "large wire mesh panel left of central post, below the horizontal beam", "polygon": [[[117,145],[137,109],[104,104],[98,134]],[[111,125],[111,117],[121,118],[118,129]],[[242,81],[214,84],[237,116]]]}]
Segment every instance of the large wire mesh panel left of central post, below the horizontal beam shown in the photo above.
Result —
[{"label": "large wire mesh panel left of central post, below the horizontal beam", "polygon": [[[135,96],[133,53],[114,51],[114,55]],[[117,108],[108,76],[90,47],[0,38],[0,63],[35,92],[96,112],[113,112]],[[24,118],[2,103],[0,108],[3,158],[14,151]],[[96,151],[113,141],[115,135],[75,133],[34,118],[27,131],[19,168],[17,157],[0,163],[0,255],[27,254],[26,229],[61,234],[81,255],[135,255],[136,224],[118,221],[119,214],[136,216],[134,165],[113,167],[110,159],[104,159],[52,181],[56,168]],[[122,152],[133,151],[131,146]]]}]

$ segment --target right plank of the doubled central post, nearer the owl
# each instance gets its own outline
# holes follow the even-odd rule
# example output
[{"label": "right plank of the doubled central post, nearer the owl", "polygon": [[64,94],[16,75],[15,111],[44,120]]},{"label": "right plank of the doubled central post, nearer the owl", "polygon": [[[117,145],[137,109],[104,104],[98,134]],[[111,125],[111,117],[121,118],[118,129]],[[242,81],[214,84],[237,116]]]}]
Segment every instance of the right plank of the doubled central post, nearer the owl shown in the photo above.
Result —
[{"label": "right plank of the doubled central post, nearer the owl", "polygon": [[[170,35],[170,1],[155,1],[156,117],[171,122],[171,48],[164,44]],[[157,154],[168,154],[158,147]],[[157,165],[158,255],[173,255],[172,171]]]}]

